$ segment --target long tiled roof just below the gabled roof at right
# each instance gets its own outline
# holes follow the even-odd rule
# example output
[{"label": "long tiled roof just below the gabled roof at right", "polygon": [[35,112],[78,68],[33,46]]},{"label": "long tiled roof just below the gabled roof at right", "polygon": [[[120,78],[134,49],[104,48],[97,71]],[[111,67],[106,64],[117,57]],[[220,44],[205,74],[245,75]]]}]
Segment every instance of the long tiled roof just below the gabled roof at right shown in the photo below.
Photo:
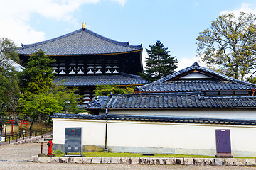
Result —
[{"label": "long tiled roof just below the gabled roof at right", "polygon": [[87,109],[256,108],[253,96],[202,96],[200,92],[112,94],[88,103]]}]

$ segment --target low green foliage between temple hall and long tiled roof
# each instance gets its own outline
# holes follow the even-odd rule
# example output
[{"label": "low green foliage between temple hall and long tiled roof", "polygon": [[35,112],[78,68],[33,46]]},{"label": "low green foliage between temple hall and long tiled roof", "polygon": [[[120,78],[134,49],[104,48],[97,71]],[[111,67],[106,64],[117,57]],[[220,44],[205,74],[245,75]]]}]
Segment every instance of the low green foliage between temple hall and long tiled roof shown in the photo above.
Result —
[{"label": "low green foliage between temple hall and long tiled roof", "polygon": [[110,96],[110,94],[134,94],[132,87],[121,88],[117,85],[97,85],[95,89],[95,96]]}]

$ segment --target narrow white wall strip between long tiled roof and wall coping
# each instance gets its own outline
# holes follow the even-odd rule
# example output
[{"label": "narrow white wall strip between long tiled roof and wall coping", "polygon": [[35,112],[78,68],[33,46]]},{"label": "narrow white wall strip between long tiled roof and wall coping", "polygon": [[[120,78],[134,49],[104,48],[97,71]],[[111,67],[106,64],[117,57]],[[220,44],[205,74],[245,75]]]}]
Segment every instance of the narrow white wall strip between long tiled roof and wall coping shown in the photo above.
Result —
[{"label": "narrow white wall strip between long tiled roof and wall coping", "polygon": [[176,116],[176,117],[198,117],[198,118],[234,118],[234,119],[256,119],[255,108],[195,108],[195,109],[132,109],[132,110],[110,110],[114,115],[157,115],[157,116]]}]

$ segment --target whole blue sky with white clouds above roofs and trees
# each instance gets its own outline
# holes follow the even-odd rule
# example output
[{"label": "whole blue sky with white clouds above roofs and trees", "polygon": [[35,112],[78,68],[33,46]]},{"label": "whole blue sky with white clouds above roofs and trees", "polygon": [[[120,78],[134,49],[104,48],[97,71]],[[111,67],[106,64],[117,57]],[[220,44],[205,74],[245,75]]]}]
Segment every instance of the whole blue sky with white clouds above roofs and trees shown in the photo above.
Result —
[{"label": "whole blue sky with white clouds above roofs and trees", "polygon": [[0,38],[18,47],[86,28],[144,48],[160,40],[178,69],[199,62],[196,38],[225,13],[256,13],[255,0],[0,0]]}]

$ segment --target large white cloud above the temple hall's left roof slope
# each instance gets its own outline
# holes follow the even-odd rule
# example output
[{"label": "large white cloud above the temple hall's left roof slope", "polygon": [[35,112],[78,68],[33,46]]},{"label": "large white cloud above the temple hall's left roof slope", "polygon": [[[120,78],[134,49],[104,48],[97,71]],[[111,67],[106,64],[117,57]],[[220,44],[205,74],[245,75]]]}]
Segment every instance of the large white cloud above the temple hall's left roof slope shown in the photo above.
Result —
[{"label": "large white cloud above the temple hall's left roof slope", "polygon": [[[45,40],[45,33],[31,27],[31,15],[37,13],[44,18],[77,24],[73,12],[78,11],[82,4],[97,4],[100,1],[103,0],[0,0],[0,37],[14,40],[19,46],[21,42],[26,44]],[[122,6],[126,2],[112,1]]]}]

